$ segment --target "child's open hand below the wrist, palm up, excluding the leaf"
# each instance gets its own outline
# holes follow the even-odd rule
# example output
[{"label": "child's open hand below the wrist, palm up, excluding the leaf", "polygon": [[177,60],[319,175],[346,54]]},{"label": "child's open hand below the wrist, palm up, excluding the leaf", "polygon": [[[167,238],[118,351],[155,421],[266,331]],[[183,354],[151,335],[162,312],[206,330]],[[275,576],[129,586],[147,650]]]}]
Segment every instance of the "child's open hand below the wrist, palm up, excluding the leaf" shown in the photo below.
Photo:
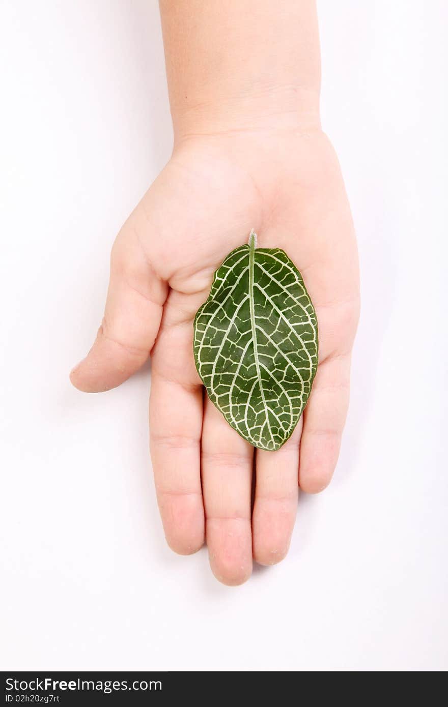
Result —
[{"label": "child's open hand below the wrist, palm up, excluding the leaf", "polygon": [[[231,429],[203,395],[193,359],[195,312],[214,270],[251,228],[259,247],[292,258],[318,317],[319,366],[303,426],[277,452],[254,450]],[[331,479],[358,308],[350,209],[338,160],[317,129],[185,136],[115,241],[103,323],[71,381],[108,390],[151,352],[151,457],[166,538],[189,554],[206,537],[224,583],[246,580],[252,558],[283,559],[298,486],[314,493]]]}]

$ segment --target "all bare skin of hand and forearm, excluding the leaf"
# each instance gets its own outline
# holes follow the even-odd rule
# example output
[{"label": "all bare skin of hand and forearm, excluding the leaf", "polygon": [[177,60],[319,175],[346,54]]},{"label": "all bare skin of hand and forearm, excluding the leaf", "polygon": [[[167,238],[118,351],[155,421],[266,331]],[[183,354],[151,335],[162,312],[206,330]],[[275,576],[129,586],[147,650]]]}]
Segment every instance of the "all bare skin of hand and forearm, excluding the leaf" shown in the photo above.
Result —
[{"label": "all bare skin of hand and forearm, excluding the leaf", "polygon": [[[173,155],[115,240],[103,322],[71,382],[109,390],[151,354],[151,458],[167,542],[191,554],[206,541],[214,575],[239,585],[253,560],[285,557],[299,486],[322,491],[338,460],[359,313],[355,234],[321,131],[314,3],[247,0],[243,17],[239,0],[163,0],[161,17]],[[258,247],[292,258],[318,317],[311,397],[277,452],[231,429],[193,359],[195,312],[251,228]]]}]

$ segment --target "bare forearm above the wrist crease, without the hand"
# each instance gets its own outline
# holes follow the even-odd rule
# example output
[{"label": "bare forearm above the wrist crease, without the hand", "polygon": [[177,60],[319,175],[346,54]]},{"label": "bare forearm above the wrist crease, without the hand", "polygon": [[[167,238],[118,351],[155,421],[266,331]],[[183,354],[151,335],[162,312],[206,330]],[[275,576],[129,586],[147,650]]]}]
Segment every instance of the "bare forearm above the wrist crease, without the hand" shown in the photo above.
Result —
[{"label": "bare forearm above the wrist crease, without the hand", "polygon": [[318,127],[314,0],[160,0],[175,139]]}]

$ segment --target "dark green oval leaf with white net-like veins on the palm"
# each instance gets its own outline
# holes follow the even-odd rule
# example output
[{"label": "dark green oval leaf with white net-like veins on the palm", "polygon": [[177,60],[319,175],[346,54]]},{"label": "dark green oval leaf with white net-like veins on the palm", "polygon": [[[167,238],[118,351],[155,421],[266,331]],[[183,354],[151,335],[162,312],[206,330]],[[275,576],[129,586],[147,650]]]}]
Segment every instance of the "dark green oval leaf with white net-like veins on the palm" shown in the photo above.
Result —
[{"label": "dark green oval leaf with white net-like veins on the palm", "polygon": [[284,250],[232,250],[195,317],[197,371],[226,421],[254,447],[291,436],[317,368],[317,320],[303,278]]}]

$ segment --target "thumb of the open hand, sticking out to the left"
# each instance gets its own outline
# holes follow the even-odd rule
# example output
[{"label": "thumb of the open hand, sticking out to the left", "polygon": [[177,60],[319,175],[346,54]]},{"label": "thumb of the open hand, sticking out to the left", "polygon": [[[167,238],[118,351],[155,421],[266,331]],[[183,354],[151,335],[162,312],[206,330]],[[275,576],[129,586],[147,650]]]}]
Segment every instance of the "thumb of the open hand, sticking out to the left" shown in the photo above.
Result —
[{"label": "thumb of the open hand, sticking out to the left", "polygon": [[86,358],[70,373],[84,392],[100,392],[130,378],[154,345],[168,286],[151,268],[128,222],[113,246],[103,322]]}]

